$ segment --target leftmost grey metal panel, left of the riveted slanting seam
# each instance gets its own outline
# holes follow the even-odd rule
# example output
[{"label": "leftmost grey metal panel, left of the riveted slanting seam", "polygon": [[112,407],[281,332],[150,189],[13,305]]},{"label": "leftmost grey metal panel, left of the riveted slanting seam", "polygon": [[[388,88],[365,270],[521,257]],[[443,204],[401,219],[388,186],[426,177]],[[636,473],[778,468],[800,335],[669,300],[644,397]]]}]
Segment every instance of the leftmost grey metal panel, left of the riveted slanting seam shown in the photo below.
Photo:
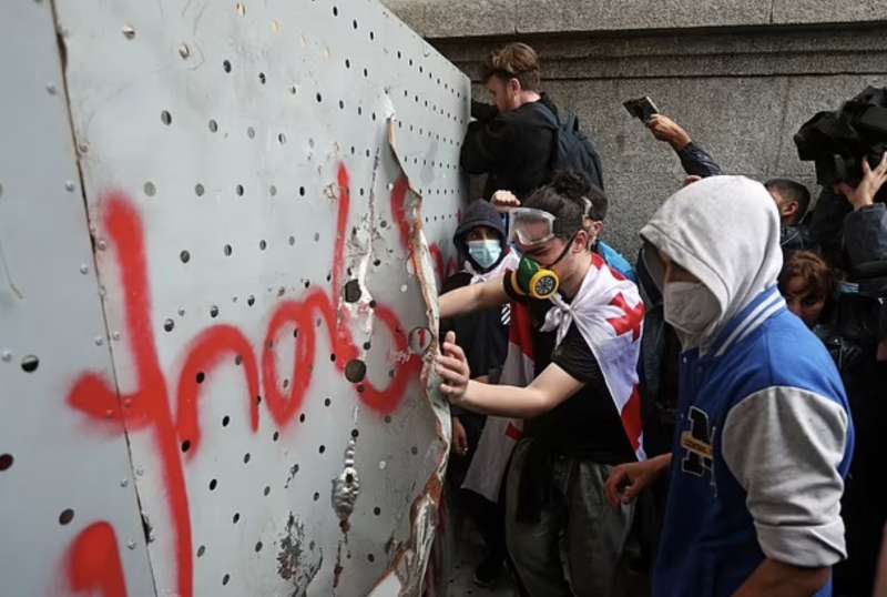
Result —
[{"label": "leftmost grey metal panel, left of the riveted slanting seam", "polygon": [[153,593],[49,2],[0,9],[0,595]]}]

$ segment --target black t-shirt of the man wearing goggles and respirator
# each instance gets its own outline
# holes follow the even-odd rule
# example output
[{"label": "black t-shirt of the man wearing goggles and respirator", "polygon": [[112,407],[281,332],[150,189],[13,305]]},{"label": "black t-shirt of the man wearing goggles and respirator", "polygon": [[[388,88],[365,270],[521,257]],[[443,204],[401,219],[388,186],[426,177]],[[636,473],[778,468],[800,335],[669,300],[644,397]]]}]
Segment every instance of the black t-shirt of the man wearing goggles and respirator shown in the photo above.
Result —
[{"label": "black t-shirt of the man wearing goggles and respirator", "polygon": [[527,419],[524,435],[542,441],[557,454],[589,458],[600,464],[620,464],[635,459],[601,367],[575,324],[570,326],[555,348],[557,332],[540,331],[546,314],[553,307],[551,302],[516,297],[507,281],[504,285],[510,296],[529,307],[536,375],[554,363],[585,384],[554,409]]}]

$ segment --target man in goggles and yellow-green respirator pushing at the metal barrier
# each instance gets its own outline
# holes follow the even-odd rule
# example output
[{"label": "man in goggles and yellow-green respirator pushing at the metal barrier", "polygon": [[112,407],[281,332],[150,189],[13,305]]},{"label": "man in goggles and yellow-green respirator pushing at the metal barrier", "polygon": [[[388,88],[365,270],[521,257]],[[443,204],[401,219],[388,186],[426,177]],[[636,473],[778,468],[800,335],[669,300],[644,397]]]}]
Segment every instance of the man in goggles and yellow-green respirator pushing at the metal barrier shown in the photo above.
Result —
[{"label": "man in goggles and yellow-green respirator pushing at the metal barrier", "polygon": [[[539,597],[613,594],[633,510],[600,508],[603,485],[613,465],[643,457],[643,304],[634,284],[589,250],[585,209],[553,184],[537,190],[509,214],[517,267],[440,297],[441,316],[509,301],[527,307],[529,385],[472,380],[451,332],[437,372],[453,405],[524,419],[506,482],[506,536],[520,580]],[[520,324],[512,315],[512,327]]]}]

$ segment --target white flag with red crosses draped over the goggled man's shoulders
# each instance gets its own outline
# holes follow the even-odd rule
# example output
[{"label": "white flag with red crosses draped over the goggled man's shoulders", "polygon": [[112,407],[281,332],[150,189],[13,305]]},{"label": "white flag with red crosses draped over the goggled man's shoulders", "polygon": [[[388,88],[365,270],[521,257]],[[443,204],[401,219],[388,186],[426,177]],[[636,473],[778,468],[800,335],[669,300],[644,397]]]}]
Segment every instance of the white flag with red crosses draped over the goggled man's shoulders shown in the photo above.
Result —
[{"label": "white flag with red crosses draped over the goggled man's shoulders", "polygon": [[[611,270],[592,253],[592,266],[571,303],[560,295],[546,315],[543,332],[555,332],[560,345],[570,325],[575,323],[601,367],[606,387],[622,418],[622,426],[639,461],[645,459],[641,422],[641,394],[638,385],[638,360],[644,306],[638,287]],[[503,260],[510,261],[510,260]],[[514,257],[509,269],[513,269]],[[508,356],[500,383],[527,386],[536,376],[530,314],[526,305],[511,305]],[[499,489],[511,451],[522,435],[519,419],[488,416],[477,451],[462,487],[490,502],[499,500]]]}]

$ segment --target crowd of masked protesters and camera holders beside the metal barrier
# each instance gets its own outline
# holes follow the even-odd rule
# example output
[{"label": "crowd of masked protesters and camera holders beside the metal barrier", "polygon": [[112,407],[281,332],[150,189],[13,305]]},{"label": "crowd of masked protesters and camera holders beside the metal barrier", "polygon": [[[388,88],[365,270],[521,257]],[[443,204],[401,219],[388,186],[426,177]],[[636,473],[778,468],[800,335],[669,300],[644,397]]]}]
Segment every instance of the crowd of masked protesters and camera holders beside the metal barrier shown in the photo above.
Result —
[{"label": "crowd of masked protesters and camera holders beside the metal barrier", "polygon": [[600,156],[532,48],[493,52],[482,79],[461,165],[487,181],[436,358],[450,496],[488,549],[476,583],[887,595],[887,154],[814,204],[652,115],[687,178],[629,260],[602,240]]}]

